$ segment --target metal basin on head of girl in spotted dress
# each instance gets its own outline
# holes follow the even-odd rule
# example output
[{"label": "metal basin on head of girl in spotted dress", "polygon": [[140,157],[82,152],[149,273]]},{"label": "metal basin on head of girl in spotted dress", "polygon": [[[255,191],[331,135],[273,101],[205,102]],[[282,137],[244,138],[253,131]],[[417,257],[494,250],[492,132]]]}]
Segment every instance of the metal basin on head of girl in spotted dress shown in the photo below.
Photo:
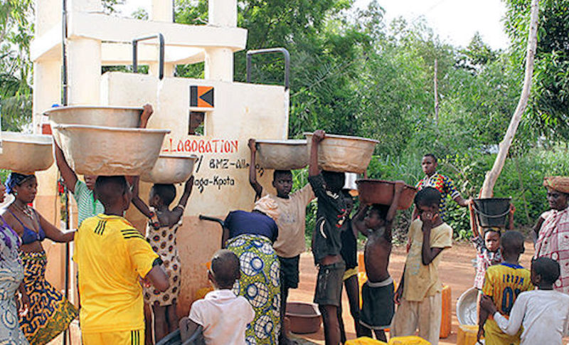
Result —
[{"label": "metal basin on head of girl in spotted dress", "polygon": [[193,164],[198,156],[160,155],[151,171],[144,171],[140,179],[153,184],[181,184],[193,173]]}]

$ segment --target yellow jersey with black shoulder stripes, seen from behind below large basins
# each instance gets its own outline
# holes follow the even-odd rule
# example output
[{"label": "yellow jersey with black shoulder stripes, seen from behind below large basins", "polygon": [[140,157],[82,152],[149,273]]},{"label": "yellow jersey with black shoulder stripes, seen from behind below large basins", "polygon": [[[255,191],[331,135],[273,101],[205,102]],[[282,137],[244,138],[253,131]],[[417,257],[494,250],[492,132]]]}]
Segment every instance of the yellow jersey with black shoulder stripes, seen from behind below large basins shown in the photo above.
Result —
[{"label": "yellow jersey with black shoulder stripes, seen from behind below large basins", "polygon": [[84,333],[144,329],[139,277],[158,255],[126,219],[99,214],[75,234],[75,253]]}]

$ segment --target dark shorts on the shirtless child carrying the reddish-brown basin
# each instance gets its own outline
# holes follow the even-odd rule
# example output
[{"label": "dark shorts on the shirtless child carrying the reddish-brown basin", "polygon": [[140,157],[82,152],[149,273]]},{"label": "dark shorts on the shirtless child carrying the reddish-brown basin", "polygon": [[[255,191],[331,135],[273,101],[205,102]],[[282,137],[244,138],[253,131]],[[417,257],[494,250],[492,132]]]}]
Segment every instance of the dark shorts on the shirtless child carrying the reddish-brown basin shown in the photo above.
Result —
[{"label": "dark shorts on the shirtless child carrying the reddish-brown basin", "polygon": [[360,324],[368,329],[386,329],[395,314],[393,279],[365,282],[361,287]]}]

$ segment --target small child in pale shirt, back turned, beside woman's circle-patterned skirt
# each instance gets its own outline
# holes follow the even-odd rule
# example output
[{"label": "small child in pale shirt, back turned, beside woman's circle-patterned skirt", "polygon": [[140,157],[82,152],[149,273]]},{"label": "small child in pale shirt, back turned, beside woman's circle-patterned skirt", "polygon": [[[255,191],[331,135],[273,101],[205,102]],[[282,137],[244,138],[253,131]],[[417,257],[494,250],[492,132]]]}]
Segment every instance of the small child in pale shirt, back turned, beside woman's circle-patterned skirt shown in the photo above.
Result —
[{"label": "small child in pale shirt, back turned, beside woman's circle-patterned skirt", "polygon": [[208,280],[216,290],[193,302],[187,327],[181,327],[182,339],[191,336],[199,326],[207,345],[245,345],[245,329],[255,318],[251,304],[243,296],[235,296],[233,284],[240,279],[239,258],[221,249],[211,258]]}]

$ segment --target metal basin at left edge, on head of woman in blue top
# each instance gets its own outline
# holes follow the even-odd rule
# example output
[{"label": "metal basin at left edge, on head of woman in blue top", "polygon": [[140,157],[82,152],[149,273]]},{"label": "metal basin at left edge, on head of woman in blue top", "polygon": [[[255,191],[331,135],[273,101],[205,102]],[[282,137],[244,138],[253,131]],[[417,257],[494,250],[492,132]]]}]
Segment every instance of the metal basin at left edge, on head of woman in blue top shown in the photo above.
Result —
[{"label": "metal basin at left edge, on head of woman in blue top", "polygon": [[50,135],[2,132],[0,169],[31,174],[53,164],[53,140]]}]

